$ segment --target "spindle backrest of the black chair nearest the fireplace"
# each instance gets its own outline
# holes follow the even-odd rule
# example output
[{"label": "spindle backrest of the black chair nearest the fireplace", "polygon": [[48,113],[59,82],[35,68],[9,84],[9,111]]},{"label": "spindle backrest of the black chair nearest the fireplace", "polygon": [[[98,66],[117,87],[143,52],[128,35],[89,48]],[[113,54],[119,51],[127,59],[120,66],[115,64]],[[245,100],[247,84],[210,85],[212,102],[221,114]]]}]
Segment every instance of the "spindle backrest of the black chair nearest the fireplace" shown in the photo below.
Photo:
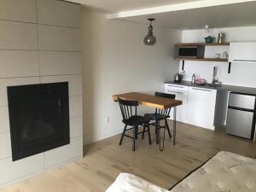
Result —
[{"label": "spindle backrest of the black chair nearest the fireplace", "polygon": [[118,102],[121,109],[123,120],[129,119],[133,115],[137,115],[137,101],[128,101],[118,98]]}]

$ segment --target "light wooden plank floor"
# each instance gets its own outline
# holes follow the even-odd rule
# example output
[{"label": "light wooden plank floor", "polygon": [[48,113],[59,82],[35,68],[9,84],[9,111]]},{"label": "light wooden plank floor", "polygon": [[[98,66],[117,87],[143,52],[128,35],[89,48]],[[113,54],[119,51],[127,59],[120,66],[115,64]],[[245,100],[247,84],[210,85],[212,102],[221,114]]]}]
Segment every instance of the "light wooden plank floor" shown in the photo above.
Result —
[{"label": "light wooden plank floor", "polygon": [[139,137],[137,151],[131,151],[131,139],[119,147],[119,136],[110,137],[84,148],[84,159],[32,177],[0,192],[87,192],[105,191],[120,172],[131,172],[166,189],[200,166],[218,151],[256,157],[256,143],[231,137],[222,131],[208,131],[192,125],[177,124],[177,145],[166,140],[160,152],[148,137]]}]

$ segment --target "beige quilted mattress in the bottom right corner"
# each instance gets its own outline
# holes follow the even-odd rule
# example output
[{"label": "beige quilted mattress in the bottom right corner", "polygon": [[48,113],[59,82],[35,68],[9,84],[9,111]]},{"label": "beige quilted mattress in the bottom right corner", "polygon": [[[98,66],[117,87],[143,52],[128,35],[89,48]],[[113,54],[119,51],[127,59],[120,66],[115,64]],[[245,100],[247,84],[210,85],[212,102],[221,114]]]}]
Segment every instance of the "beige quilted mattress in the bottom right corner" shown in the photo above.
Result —
[{"label": "beige quilted mattress in the bottom right corner", "polygon": [[256,192],[256,160],[219,152],[172,192]]}]

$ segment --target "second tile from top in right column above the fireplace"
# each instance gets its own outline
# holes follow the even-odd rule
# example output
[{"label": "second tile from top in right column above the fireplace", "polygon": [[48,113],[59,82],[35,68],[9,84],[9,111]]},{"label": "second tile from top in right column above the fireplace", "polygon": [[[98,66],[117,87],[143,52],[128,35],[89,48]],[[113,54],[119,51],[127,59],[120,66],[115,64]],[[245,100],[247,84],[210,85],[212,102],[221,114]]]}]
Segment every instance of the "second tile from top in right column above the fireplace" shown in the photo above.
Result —
[{"label": "second tile from top in right column above the fireplace", "polygon": [[38,25],[40,50],[81,51],[79,29]]}]

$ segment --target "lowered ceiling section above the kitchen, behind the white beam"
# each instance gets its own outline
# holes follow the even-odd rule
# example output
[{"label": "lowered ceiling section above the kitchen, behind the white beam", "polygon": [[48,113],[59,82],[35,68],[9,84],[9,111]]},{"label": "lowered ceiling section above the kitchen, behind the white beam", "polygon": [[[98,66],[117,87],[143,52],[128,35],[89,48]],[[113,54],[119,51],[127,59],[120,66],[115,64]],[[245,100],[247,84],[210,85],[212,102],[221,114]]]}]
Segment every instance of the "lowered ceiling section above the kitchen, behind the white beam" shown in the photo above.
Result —
[{"label": "lowered ceiling section above the kitchen, behind the white beam", "polygon": [[[140,15],[125,18],[139,23],[147,23],[151,15]],[[256,2],[236,3],[200,9],[155,14],[155,26],[172,29],[202,29],[205,25],[211,28],[256,26]]]}]

